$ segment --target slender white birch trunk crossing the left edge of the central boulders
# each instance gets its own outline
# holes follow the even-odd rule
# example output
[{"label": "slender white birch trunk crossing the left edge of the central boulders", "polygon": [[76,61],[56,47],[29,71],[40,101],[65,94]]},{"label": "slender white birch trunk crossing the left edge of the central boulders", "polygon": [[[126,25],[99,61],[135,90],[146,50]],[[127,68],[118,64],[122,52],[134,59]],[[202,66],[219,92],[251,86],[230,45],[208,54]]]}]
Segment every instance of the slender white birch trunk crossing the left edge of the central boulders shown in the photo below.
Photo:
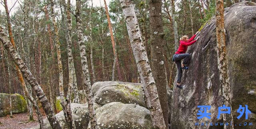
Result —
[{"label": "slender white birch trunk crossing the left edge of the central boulders", "polygon": [[83,72],[83,84],[85,85],[85,92],[86,92],[86,100],[88,103],[89,109],[89,116],[90,116],[90,125],[92,129],[97,129],[96,123],[96,115],[94,110],[94,104],[92,99],[92,91],[91,91],[91,83],[90,83],[90,76],[88,71],[87,59],[86,59],[86,51],[85,45],[82,40],[83,33],[82,33],[82,20],[80,18],[80,10],[81,10],[81,0],[76,0],[76,30],[78,36],[78,44],[80,48],[80,57],[82,63],[82,72]]}]

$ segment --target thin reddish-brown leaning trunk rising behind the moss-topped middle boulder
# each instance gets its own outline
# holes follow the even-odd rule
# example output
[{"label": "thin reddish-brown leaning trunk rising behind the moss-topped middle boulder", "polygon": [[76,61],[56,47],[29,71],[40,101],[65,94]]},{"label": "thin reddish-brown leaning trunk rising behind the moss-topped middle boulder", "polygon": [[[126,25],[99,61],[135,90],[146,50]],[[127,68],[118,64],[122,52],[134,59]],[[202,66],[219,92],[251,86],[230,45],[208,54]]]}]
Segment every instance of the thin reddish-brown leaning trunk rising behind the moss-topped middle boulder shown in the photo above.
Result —
[{"label": "thin reddish-brown leaning trunk rising behind the moss-topped middle boulder", "polygon": [[[106,4],[106,0],[104,0],[104,4],[105,4],[106,16],[107,16],[107,19],[108,19],[108,28],[109,28],[109,31],[110,31],[111,42],[112,42],[112,47],[113,47],[113,52],[114,52],[114,60],[115,60],[114,62],[116,64],[116,69],[117,69],[117,73],[118,73],[118,79],[119,79],[119,81],[122,81],[123,77],[122,77],[121,70],[120,70],[120,67],[119,67],[118,58],[116,58],[117,57],[116,56],[117,53],[115,51],[115,47],[116,46],[115,46],[114,36],[113,36],[113,32],[112,32],[112,25],[111,25],[110,17],[109,17],[109,14],[108,14],[108,7],[107,7],[107,4]],[[114,65],[113,65],[113,67],[114,67]],[[113,79],[113,76],[112,76],[112,79]]]}]

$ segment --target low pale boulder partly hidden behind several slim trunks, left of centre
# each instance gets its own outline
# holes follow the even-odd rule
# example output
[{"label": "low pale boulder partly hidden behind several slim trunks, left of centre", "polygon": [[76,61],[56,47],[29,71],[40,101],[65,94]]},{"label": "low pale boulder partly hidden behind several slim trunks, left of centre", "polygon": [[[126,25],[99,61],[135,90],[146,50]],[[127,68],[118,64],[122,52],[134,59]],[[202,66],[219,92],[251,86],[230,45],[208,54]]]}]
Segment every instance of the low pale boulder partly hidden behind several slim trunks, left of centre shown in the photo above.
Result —
[{"label": "low pale boulder partly hidden behind several slim trunks, left of centre", "polygon": [[[88,104],[71,103],[72,119],[76,125],[76,129],[86,129],[89,124],[89,110]],[[97,109],[98,105],[94,103],[94,109]],[[56,114],[57,120],[60,122],[60,126],[63,129],[67,129],[65,117],[63,111]],[[51,129],[51,125],[48,119],[44,119],[45,129]],[[37,127],[39,129],[39,127]]]}]

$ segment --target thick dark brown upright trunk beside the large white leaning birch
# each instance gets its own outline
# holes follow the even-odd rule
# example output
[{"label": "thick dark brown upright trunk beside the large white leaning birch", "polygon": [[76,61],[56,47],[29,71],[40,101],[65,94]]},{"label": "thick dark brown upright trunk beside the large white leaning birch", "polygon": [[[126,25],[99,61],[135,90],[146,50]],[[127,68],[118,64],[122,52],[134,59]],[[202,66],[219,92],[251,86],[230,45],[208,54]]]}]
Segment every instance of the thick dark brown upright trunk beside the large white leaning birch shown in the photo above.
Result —
[{"label": "thick dark brown upright trunk beside the large white leaning birch", "polygon": [[165,126],[168,127],[168,103],[166,90],[166,71],[164,66],[164,32],[162,21],[162,0],[149,2],[149,22],[151,40],[152,73],[156,82],[156,89],[162,107]]}]

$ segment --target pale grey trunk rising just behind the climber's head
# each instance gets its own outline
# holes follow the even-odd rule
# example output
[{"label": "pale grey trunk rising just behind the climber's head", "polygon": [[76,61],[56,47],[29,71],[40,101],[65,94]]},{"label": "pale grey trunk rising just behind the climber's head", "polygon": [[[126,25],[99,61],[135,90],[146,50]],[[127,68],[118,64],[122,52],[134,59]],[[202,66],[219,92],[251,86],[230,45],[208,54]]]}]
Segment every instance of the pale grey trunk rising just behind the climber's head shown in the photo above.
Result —
[{"label": "pale grey trunk rising just behind the climber's head", "polygon": [[178,35],[178,25],[177,25],[177,20],[176,20],[176,11],[175,11],[175,5],[174,5],[174,0],[172,0],[172,29],[174,33],[174,50],[178,50],[179,47],[179,35]]}]

